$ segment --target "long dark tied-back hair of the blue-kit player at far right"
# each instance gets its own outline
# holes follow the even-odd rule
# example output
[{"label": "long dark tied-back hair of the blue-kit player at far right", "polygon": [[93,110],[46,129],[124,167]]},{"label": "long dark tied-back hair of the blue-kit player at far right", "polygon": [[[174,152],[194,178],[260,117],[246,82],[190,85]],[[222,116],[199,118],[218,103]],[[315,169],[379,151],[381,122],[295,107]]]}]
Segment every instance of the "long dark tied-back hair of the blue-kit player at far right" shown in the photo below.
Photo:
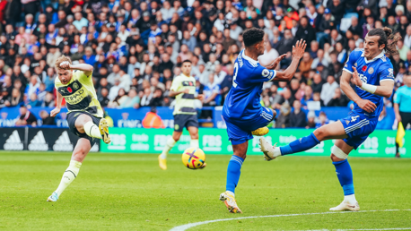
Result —
[{"label": "long dark tied-back hair of the blue-kit player at far right", "polygon": [[378,39],[378,46],[384,44],[384,49],[387,55],[394,56],[398,54],[397,42],[401,39],[401,36],[392,33],[392,30],[388,27],[372,29],[368,31],[368,36],[380,36],[380,39]]}]

